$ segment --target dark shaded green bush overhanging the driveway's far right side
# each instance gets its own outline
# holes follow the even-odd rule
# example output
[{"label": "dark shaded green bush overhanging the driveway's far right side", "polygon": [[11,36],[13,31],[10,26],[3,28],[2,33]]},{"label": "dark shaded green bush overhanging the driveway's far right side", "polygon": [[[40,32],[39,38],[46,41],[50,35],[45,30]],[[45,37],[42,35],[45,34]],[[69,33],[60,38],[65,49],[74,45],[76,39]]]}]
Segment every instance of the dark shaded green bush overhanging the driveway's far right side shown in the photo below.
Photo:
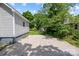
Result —
[{"label": "dark shaded green bush overhanging the driveway's far right side", "polygon": [[64,38],[65,36],[68,36],[72,34],[72,28],[68,24],[55,24],[51,27],[48,27],[46,29],[46,33],[49,35],[52,35],[57,38]]}]

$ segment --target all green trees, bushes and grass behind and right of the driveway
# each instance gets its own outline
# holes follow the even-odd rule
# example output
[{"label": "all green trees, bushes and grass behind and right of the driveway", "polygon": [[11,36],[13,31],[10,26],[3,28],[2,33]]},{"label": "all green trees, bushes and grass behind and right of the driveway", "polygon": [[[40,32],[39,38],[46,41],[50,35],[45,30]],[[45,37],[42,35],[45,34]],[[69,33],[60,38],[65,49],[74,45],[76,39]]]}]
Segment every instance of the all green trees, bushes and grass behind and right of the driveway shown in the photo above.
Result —
[{"label": "all green trees, bushes and grass behind and right of the driveway", "polygon": [[40,31],[79,47],[79,29],[75,28],[79,23],[79,15],[74,16],[69,12],[74,6],[75,4],[46,3],[38,13],[32,15],[27,11],[23,16],[30,21],[31,29],[36,28],[30,31],[31,34],[39,34],[37,31]]}]

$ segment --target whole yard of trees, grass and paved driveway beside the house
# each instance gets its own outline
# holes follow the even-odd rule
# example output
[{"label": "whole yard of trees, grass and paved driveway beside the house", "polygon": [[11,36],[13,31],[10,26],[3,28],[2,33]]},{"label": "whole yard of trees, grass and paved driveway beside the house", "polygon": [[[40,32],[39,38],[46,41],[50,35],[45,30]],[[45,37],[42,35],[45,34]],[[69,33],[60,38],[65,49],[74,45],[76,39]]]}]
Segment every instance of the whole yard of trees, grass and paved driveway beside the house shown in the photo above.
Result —
[{"label": "whole yard of trees, grass and paved driveway beside the house", "polygon": [[[71,14],[73,3],[44,3],[29,20],[28,36],[0,51],[5,56],[79,56],[79,14]],[[18,48],[17,48],[18,47]]]}]

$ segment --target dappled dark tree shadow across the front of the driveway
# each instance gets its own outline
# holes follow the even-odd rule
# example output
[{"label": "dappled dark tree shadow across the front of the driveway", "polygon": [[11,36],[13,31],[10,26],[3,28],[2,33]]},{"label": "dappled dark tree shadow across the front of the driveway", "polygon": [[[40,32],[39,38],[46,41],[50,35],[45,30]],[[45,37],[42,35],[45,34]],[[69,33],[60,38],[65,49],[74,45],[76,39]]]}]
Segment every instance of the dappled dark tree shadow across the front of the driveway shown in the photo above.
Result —
[{"label": "dappled dark tree shadow across the front of the driveway", "polygon": [[31,44],[15,43],[0,52],[2,56],[72,56],[68,52],[63,52],[52,45],[37,46],[32,48]]}]

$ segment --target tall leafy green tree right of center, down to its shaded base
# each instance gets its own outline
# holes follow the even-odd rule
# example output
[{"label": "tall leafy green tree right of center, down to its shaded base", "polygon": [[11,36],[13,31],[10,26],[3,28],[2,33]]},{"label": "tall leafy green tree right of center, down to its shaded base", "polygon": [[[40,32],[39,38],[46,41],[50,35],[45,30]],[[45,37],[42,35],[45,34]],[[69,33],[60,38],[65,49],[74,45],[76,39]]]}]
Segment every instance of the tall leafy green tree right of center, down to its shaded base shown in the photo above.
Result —
[{"label": "tall leafy green tree right of center, down to its shaded base", "polygon": [[48,3],[43,5],[42,12],[47,15],[49,20],[49,24],[45,28],[47,33],[59,38],[70,34],[71,26],[64,24],[64,21],[71,20],[70,7],[73,7],[73,4]]}]

